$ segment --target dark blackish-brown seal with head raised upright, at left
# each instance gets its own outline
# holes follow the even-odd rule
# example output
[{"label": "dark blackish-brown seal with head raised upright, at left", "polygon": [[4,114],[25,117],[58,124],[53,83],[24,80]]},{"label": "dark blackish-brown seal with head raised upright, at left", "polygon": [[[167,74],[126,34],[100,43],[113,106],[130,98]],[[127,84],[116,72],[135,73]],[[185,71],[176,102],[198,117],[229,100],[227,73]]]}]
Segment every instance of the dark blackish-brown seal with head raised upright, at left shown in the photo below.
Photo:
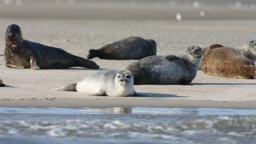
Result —
[{"label": "dark blackish-brown seal with head raised upright, at left", "polygon": [[24,40],[16,24],[6,29],[5,42],[4,63],[9,68],[99,68],[94,61],[74,56],[63,49]]}]

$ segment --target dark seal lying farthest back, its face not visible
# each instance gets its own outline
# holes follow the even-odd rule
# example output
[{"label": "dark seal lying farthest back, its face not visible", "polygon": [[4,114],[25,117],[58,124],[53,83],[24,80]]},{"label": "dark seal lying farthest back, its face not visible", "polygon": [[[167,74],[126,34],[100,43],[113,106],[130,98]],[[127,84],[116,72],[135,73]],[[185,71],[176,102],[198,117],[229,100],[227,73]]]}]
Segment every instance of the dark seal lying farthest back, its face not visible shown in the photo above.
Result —
[{"label": "dark seal lying farthest back, its face not visible", "polygon": [[100,49],[90,49],[88,59],[99,57],[109,60],[140,60],[147,56],[156,55],[156,42],[154,40],[145,40],[138,36],[132,36],[104,45]]}]

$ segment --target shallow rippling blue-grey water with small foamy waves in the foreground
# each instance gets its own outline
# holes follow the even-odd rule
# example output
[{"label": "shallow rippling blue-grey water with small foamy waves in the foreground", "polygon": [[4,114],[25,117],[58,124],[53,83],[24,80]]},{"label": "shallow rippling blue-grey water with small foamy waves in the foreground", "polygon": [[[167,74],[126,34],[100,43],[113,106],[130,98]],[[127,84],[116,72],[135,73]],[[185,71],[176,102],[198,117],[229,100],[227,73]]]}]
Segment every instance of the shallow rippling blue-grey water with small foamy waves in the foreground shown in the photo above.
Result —
[{"label": "shallow rippling blue-grey water with small foamy waves in the foreground", "polygon": [[256,109],[0,108],[0,143],[255,143]]}]

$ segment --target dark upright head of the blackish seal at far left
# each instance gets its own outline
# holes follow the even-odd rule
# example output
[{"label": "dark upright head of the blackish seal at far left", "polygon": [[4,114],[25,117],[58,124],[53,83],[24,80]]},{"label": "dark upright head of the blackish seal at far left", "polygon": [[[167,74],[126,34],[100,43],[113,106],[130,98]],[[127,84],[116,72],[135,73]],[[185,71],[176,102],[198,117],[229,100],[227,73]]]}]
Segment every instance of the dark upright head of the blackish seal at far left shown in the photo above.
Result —
[{"label": "dark upright head of the blackish seal at far left", "polygon": [[8,26],[5,33],[6,44],[19,44],[22,42],[22,33],[20,27],[16,24]]}]

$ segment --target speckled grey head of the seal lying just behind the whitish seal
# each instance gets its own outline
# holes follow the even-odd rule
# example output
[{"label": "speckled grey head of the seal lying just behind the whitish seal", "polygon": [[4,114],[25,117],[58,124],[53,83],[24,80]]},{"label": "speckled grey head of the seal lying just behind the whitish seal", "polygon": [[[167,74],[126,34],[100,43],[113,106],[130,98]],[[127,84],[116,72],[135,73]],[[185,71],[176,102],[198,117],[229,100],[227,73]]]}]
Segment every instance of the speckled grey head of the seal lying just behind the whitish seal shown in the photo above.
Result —
[{"label": "speckled grey head of the seal lying just behind the whitish seal", "polygon": [[198,45],[190,45],[185,50],[185,54],[187,54],[190,58],[200,59],[202,58],[203,51]]}]

